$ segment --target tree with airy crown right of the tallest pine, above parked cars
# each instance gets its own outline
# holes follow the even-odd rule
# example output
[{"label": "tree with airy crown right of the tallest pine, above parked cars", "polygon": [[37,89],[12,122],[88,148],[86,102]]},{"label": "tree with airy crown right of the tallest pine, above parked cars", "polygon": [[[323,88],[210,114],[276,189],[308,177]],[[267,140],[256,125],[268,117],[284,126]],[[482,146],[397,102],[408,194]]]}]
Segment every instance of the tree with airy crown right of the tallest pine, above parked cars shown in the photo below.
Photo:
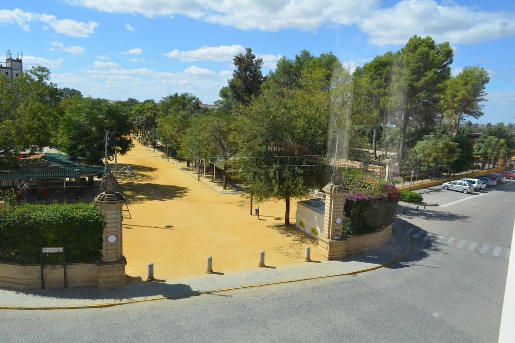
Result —
[{"label": "tree with airy crown right of the tallest pine, above parked cars", "polygon": [[483,116],[482,102],[487,101],[485,85],[489,81],[488,71],[479,66],[465,67],[447,81],[442,96],[443,116],[453,124],[456,135],[460,122],[466,117],[478,119]]}]

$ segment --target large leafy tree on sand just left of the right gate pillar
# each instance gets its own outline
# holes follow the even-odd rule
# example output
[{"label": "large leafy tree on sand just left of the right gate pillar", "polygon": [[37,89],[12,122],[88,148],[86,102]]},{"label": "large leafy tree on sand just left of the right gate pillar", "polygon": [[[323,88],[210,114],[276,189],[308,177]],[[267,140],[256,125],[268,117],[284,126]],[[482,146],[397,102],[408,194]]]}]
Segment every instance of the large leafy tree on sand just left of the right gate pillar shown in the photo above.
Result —
[{"label": "large leafy tree on sand just left of the right gate pillar", "polygon": [[320,158],[327,144],[329,93],[323,74],[315,73],[300,89],[265,89],[238,118],[234,136],[241,149],[235,159],[239,176],[256,201],[285,201],[289,226],[290,198],[327,182],[327,162]]}]

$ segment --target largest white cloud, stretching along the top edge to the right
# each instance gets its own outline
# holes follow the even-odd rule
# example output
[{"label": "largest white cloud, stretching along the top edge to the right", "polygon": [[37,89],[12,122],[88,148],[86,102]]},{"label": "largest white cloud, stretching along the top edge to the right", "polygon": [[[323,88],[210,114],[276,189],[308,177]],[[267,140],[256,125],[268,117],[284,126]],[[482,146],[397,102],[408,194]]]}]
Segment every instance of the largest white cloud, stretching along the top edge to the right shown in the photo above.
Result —
[{"label": "largest white cloud, stretching along the top edge to the right", "polygon": [[[436,41],[473,44],[515,34],[512,13],[435,0],[402,0],[381,7],[379,0],[67,0],[98,11],[145,16],[183,14],[204,22],[243,30],[315,31],[324,26],[357,25],[375,45],[405,44],[413,34]],[[174,50],[175,51],[175,50]],[[173,52],[173,51],[172,51]]]}]

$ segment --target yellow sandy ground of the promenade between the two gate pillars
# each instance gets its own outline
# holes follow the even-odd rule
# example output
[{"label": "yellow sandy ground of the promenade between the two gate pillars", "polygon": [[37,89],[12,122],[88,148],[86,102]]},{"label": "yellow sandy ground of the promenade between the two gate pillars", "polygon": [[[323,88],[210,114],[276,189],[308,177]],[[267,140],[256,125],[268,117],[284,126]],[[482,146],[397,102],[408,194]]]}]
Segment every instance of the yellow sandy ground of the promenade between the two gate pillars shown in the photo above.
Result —
[{"label": "yellow sandy ground of the promenade between the two gate pillars", "polygon": [[[260,204],[258,220],[245,195],[220,194],[137,142],[118,157],[118,168],[128,165],[133,173],[118,180],[132,216],[123,228],[126,273],[135,279],[146,278],[148,262],[166,280],[204,274],[208,256],[218,273],[257,267],[260,250],[270,267],[302,263],[306,245],[316,258],[316,239],[284,227],[283,201]],[[292,201],[292,224],[295,211]]]}]

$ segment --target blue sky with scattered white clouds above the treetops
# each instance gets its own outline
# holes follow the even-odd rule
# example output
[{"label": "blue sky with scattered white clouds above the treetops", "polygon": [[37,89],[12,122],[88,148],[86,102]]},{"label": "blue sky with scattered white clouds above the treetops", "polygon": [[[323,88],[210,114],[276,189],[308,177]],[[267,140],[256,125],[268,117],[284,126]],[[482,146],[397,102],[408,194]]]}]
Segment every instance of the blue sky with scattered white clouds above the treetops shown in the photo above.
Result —
[{"label": "blue sky with scattered white clouds above the treetops", "polygon": [[480,123],[515,121],[515,3],[433,0],[56,0],[0,5],[2,50],[23,51],[59,87],[85,96],[159,100],[190,92],[218,98],[232,57],[265,61],[302,49],[332,51],[351,69],[401,48],[413,34],[455,48],[453,73],[490,72]]}]

